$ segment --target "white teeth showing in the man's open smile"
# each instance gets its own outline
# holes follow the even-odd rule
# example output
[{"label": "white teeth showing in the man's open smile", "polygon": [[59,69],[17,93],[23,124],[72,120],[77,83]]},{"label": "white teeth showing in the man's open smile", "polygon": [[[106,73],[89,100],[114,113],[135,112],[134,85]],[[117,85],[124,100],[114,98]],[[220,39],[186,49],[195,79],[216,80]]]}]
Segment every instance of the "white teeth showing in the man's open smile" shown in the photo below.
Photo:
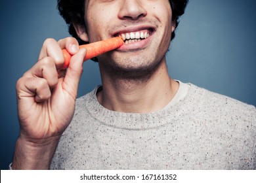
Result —
[{"label": "white teeth showing in the man's open smile", "polygon": [[136,31],[136,32],[129,32],[129,33],[120,33],[118,36],[123,39],[125,44],[130,44],[133,42],[142,41],[144,39],[148,39],[150,37],[150,33],[152,31],[149,29]]}]

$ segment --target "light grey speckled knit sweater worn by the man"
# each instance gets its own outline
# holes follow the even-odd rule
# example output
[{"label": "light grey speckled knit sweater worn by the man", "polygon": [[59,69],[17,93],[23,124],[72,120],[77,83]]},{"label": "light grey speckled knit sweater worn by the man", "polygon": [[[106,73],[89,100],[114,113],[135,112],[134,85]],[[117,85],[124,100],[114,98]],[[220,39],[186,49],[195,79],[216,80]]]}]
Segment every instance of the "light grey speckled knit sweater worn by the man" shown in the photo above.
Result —
[{"label": "light grey speckled knit sweater worn by the man", "polygon": [[102,107],[97,88],[80,97],[51,169],[256,169],[255,107],[186,86],[148,114]]}]

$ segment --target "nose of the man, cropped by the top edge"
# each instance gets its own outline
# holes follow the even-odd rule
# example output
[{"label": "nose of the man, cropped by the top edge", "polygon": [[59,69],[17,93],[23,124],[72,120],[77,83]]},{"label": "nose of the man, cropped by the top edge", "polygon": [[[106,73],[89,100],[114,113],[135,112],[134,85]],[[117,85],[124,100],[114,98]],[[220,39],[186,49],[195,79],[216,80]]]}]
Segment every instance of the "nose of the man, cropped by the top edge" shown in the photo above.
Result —
[{"label": "nose of the man, cropped by the top edge", "polygon": [[118,17],[121,20],[137,20],[146,16],[147,12],[141,0],[123,0]]}]

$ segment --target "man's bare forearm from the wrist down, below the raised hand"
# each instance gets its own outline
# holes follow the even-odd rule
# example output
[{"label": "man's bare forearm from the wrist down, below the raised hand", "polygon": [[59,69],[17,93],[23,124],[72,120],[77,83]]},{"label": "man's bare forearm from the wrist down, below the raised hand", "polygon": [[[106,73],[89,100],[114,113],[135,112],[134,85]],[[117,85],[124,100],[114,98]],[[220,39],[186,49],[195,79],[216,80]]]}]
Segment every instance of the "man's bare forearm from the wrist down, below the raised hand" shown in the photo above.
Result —
[{"label": "man's bare forearm from the wrist down, below the raised hand", "polygon": [[12,169],[49,169],[53,159],[58,137],[47,142],[28,142],[19,138],[16,142]]}]

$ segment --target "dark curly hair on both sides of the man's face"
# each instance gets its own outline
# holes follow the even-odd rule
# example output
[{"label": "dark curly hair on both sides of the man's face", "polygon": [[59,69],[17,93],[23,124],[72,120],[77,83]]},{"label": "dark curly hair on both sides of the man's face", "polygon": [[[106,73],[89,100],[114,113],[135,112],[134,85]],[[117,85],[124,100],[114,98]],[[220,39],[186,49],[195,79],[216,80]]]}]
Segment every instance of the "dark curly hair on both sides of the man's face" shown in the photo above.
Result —
[{"label": "dark curly hair on both sides of the man's face", "polygon": [[[173,11],[173,21],[175,25],[179,25],[179,18],[184,14],[188,0],[169,0],[171,5],[171,10]],[[75,37],[79,44],[87,44],[81,40],[77,33],[75,32],[75,27],[73,24],[84,25],[84,14],[85,14],[85,0],[57,0],[57,7],[60,15],[64,18],[66,24],[68,24],[68,31],[70,35]],[[171,34],[171,40],[175,37],[175,31]],[[96,58],[93,58],[93,61],[97,61]]]}]

